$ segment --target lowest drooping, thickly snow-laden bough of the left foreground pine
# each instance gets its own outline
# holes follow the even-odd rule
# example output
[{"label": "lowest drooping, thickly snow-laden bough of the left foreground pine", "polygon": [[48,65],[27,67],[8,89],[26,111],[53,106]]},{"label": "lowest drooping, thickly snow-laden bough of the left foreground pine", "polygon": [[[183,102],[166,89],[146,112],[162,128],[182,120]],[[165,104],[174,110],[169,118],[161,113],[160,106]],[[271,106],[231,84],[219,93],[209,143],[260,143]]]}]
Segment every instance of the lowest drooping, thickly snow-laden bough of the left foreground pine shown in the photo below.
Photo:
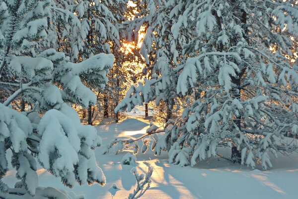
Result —
[{"label": "lowest drooping, thickly snow-laden bough of the left foreground pine", "polygon": [[41,137],[40,163],[61,177],[65,185],[73,187],[75,181],[105,184],[92,151],[101,145],[101,138],[96,129],[80,124],[77,113],[67,104],[60,111],[52,109],[45,113],[39,123],[38,135]]}]

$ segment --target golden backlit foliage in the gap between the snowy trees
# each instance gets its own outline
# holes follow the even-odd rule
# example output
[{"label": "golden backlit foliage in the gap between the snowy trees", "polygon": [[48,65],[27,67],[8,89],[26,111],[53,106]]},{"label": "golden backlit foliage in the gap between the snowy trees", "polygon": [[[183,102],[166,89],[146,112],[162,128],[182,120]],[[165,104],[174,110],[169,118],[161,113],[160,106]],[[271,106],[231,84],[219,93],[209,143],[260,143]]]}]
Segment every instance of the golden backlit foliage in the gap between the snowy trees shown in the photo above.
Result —
[{"label": "golden backlit foliage in the gap between the snowy trees", "polygon": [[[143,3],[142,1],[141,4]],[[122,9],[119,9],[119,7]],[[132,5],[131,1],[126,1],[125,6],[112,6],[109,9],[112,11],[118,10],[115,18],[117,18],[116,27],[120,36],[120,45],[114,43],[111,46],[111,52],[115,56],[115,64],[108,75],[110,78],[106,90],[110,99],[108,103],[109,108],[106,107],[105,110],[109,109],[110,111],[105,116],[115,118],[115,121],[118,122],[119,112],[115,113],[114,108],[124,98],[130,85],[140,79],[144,61],[138,50],[138,37],[135,37],[136,40],[131,39],[132,34],[134,34],[131,32],[131,24],[134,22],[132,19],[136,12],[139,11],[137,4]],[[137,30],[135,29],[134,31]]]}]

